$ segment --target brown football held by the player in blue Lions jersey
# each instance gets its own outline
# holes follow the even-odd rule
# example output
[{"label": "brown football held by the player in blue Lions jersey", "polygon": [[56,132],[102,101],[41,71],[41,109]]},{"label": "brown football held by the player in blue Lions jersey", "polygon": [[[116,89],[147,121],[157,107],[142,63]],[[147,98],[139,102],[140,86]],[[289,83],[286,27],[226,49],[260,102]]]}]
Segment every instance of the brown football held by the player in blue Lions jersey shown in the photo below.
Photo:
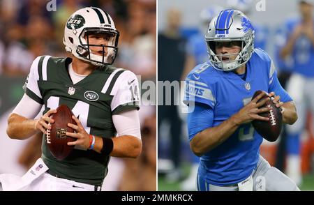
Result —
[{"label": "brown football held by the player in blue Lions jersey", "polygon": [[[261,92],[264,92],[264,91],[256,91],[254,93],[254,96],[252,97],[252,100],[256,96],[258,96]],[[266,93],[266,95],[264,95],[260,100],[263,100],[264,98],[269,98],[268,93]],[[271,110],[269,110],[269,112],[260,113],[259,115],[268,117],[269,121],[254,120],[252,121],[252,124],[255,130],[260,135],[262,135],[264,139],[267,139],[269,142],[275,142],[278,139],[279,135],[281,134],[283,116],[281,114],[281,109],[276,107],[274,102],[272,102],[272,99],[267,101],[264,105],[262,105],[262,107],[266,107],[266,106],[271,107]]]}]

